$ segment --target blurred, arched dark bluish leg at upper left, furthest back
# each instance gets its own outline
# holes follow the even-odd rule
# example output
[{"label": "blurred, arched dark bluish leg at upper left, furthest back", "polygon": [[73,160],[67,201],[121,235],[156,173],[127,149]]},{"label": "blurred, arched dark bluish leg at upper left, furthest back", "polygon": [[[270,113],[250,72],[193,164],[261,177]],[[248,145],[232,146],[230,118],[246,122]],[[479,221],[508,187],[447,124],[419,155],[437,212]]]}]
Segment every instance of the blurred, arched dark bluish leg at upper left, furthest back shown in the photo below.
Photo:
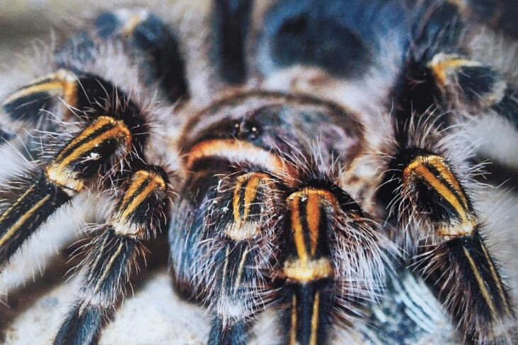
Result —
[{"label": "blurred, arched dark bluish leg at upper left, furthest back", "polygon": [[81,69],[96,58],[103,42],[121,43],[125,54],[140,62],[140,76],[147,85],[158,83],[168,100],[188,97],[185,62],[176,35],[153,13],[120,9],[101,13],[93,28],[81,31],[56,53],[65,69]]}]

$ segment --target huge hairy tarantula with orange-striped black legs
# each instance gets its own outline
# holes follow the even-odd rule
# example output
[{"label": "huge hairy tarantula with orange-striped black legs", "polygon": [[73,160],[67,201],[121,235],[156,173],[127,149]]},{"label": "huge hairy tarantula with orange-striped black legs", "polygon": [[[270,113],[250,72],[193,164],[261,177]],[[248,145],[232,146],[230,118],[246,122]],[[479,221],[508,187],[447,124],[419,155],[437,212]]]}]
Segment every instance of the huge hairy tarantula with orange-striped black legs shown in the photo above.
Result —
[{"label": "huge hairy tarantula with orange-striped black legs", "polygon": [[214,0],[75,23],[2,78],[1,290],[68,214],[98,221],[53,344],[103,342],[155,238],[210,345],[517,344],[513,254],[488,245],[516,228],[480,213],[480,162],[518,170],[513,13]]}]

